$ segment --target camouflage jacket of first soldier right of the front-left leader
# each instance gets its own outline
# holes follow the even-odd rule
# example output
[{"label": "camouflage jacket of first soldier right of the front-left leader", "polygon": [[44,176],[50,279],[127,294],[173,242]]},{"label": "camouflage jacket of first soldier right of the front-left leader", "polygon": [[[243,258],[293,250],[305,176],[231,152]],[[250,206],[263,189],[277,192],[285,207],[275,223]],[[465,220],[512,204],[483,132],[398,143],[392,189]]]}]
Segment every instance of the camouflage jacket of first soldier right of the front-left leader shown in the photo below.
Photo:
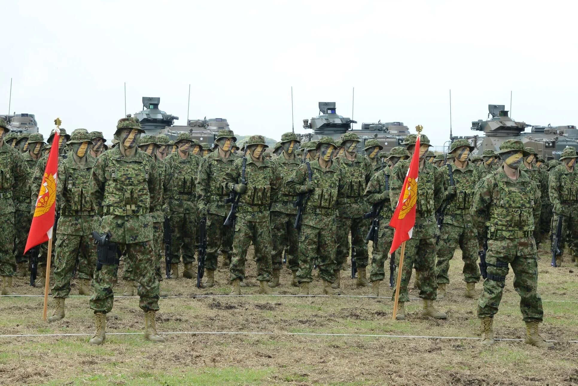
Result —
[{"label": "camouflage jacket of first soldier right of the front-left leader", "polygon": [[167,192],[169,209],[177,213],[197,213],[197,173],[201,157],[189,154],[183,159],[176,151],[164,162],[172,179],[171,189]]}]

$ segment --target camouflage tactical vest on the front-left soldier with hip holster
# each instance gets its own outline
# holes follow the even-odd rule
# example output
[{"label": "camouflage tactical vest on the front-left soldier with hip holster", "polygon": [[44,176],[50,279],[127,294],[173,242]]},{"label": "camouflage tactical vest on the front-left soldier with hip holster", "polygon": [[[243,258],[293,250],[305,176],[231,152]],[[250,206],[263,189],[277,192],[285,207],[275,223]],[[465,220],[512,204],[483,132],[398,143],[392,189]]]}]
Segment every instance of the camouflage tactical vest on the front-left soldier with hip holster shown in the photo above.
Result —
[{"label": "camouflage tactical vest on the front-left soldier with hip holster", "polygon": [[[150,192],[149,172],[151,158],[136,156],[134,161],[124,162],[113,159],[109,153],[106,166],[106,187],[102,200],[104,214],[118,216],[149,213]],[[137,153],[138,154],[138,153]]]}]

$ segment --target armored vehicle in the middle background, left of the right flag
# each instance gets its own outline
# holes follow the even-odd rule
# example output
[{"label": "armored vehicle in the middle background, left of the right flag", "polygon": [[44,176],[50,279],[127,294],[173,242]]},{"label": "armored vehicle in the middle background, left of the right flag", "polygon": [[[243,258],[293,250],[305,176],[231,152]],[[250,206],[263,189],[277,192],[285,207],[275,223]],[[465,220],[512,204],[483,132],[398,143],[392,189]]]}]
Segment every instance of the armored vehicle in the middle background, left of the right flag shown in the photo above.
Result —
[{"label": "armored vehicle in the middle background, left of the right flag", "polygon": [[323,136],[331,136],[339,139],[344,133],[351,131],[360,136],[358,152],[363,153],[365,141],[377,139],[383,151],[390,151],[392,147],[399,146],[403,138],[409,134],[407,126],[402,122],[362,123],[360,129],[354,129],[351,124],[357,123],[350,118],[344,118],[336,113],[335,102],[319,102],[320,115],[311,118],[311,121],[303,120],[303,128],[312,129],[313,133],[301,135],[301,140],[316,140]]}]

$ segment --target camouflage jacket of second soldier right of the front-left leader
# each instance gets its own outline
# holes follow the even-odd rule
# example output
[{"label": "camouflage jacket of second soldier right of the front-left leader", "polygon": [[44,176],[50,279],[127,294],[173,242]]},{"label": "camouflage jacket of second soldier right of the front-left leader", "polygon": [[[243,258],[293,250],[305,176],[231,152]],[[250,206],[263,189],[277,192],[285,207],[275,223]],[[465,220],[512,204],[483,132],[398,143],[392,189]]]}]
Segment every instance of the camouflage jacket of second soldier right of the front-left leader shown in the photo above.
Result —
[{"label": "camouflage jacket of second soldier right of the front-left leader", "polygon": [[199,208],[206,207],[207,213],[227,217],[231,204],[225,204],[229,192],[224,189],[225,174],[233,162],[240,157],[233,153],[228,158],[222,158],[217,151],[201,158],[197,173],[197,199]]}]

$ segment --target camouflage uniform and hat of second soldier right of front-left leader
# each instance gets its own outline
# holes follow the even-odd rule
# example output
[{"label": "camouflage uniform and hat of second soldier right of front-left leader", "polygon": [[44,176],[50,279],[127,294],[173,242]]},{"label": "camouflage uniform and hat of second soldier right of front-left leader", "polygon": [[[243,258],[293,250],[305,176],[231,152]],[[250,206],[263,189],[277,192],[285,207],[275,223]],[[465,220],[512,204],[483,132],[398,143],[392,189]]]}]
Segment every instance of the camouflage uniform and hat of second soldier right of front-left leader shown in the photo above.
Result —
[{"label": "camouflage uniform and hat of second soldier right of front-left leader", "polygon": [[[217,139],[232,138],[236,141],[235,134],[231,130],[219,130]],[[197,198],[199,211],[206,212],[207,251],[205,256],[205,268],[217,269],[218,248],[223,248],[225,260],[231,258],[233,246],[233,227],[223,225],[231,204],[225,204],[229,192],[225,190],[223,183],[225,173],[231,168],[233,162],[239,159],[234,153],[229,153],[227,158],[221,157],[219,151],[213,151],[207,157],[201,159],[197,173]]]}]

